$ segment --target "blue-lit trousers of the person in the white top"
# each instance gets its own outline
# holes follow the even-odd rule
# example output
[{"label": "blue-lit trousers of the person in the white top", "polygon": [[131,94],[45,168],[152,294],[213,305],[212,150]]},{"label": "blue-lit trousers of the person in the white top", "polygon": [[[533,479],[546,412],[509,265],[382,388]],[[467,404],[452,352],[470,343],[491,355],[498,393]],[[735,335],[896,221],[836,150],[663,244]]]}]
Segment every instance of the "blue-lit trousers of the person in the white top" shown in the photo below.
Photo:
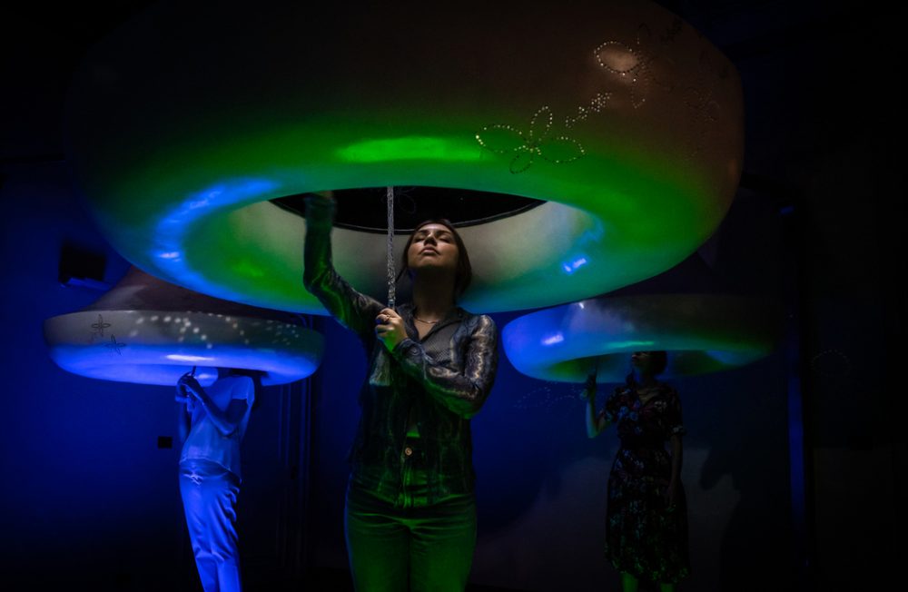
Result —
[{"label": "blue-lit trousers of the person in the white top", "polygon": [[180,493],[195,566],[205,592],[240,592],[236,497],[240,479],[205,460],[180,463]]}]

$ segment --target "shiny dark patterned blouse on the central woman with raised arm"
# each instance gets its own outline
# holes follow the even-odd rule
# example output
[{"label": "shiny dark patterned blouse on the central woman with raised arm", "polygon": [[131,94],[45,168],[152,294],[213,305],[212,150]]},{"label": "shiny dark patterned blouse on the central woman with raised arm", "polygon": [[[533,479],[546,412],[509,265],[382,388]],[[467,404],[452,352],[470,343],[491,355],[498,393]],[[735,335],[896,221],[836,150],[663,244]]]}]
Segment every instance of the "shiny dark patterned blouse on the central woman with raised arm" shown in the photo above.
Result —
[{"label": "shiny dark patterned blouse on the central woman with raised arm", "polygon": [[471,493],[469,418],[482,407],[498,368],[498,331],[485,315],[456,308],[420,340],[409,304],[399,306],[408,338],[389,351],[375,335],[383,304],[354,290],[331,262],[332,202],[307,202],[303,283],[335,319],[359,335],[369,358],[362,415],[350,449],[353,478],[396,499],[411,422],[425,451],[429,503]]}]

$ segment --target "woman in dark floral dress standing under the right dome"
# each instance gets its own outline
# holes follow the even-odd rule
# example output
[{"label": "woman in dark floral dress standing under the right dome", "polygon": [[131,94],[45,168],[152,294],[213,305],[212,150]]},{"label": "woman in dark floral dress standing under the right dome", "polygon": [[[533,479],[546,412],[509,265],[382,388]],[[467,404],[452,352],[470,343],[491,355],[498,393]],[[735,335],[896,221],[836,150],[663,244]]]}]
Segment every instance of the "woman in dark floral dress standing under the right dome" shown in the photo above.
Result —
[{"label": "woman in dark floral dress standing under the right dome", "polygon": [[598,413],[595,369],[584,390],[587,435],[596,438],[614,423],[621,442],[608,476],[606,557],[621,572],[624,592],[636,592],[641,579],[672,592],[690,571],[681,400],[656,380],[666,361],[665,351],[634,352],[627,382]]}]

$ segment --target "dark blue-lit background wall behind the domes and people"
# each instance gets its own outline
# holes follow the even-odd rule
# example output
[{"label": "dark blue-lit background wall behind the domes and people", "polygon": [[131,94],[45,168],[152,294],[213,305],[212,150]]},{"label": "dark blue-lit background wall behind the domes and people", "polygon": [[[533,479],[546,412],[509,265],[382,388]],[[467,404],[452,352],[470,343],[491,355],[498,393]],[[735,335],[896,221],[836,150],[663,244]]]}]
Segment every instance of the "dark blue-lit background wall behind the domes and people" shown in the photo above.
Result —
[{"label": "dark blue-lit background wall behind the domes and people", "polygon": [[[760,294],[785,303],[790,329],[765,360],[676,381],[689,431],[694,571],[684,589],[880,587],[905,551],[908,469],[908,409],[895,385],[905,302],[898,20],[807,2],[666,6],[742,74],[745,174],[716,237],[627,292]],[[176,436],[172,391],[67,374],[41,333],[44,319],[101,295],[60,285],[64,246],[103,255],[109,284],[127,269],[78,203],[60,118],[86,44],[139,8],[22,7],[6,25],[0,585],[12,589],[195,586],[178,445],[159,448]],[[495,318],[503,327],[516,316]],[[244,443],[251,589],[346,582],[343,458],[364,360],[334,321],[313,322],[329,343],[321,369],[268,390]],[[477,589],[617,589],[601,557],[617,442],[586,438],[575,390],[502,360],[473,422]]]}]

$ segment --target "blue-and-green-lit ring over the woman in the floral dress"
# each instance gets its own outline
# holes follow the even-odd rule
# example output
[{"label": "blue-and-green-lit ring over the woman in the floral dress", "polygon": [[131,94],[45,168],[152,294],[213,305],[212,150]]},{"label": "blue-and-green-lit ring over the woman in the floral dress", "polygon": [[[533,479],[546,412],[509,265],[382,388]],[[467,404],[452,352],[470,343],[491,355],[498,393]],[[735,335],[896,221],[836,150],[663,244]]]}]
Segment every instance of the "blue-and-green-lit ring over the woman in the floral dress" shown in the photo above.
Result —
[{"label": "blue-and-green-lit ring over the woman in the floral dress", "polygon": [[718,294],[600,297],[511,321],[502,343],[514,367],[533,378],[621,382],[629,353],[666,350],[664,377],[744,366],[775,349],[782,316],[773,303]]}]

